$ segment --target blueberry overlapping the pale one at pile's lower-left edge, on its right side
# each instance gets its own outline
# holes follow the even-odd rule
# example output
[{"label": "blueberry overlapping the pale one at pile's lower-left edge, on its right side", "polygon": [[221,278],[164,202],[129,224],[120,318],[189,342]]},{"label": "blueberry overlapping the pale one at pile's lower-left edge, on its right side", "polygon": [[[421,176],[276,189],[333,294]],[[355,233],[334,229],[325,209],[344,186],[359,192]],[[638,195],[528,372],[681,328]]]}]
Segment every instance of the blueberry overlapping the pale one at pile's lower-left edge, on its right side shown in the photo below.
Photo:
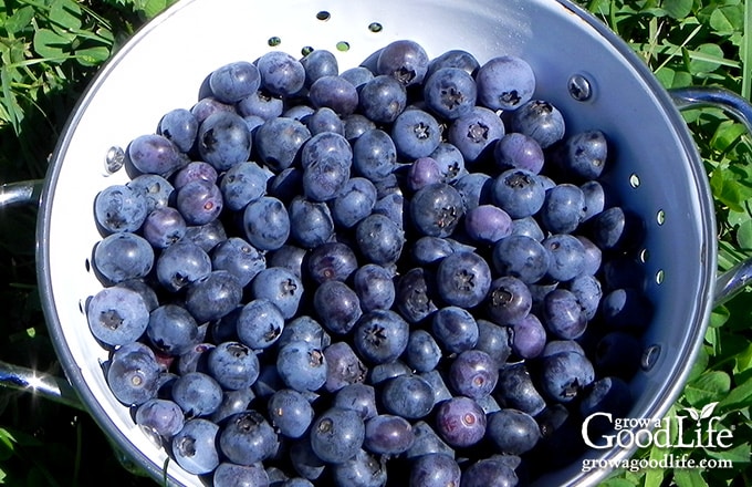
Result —
[{"label": "blueberry overlapping the pale one at pile's lower-left edge, on its right side", "polygon": [[253,465],[270,458],[280,443],[274,428],[254,410],[228,417],[218,439],[222,454],[239,465]]}]

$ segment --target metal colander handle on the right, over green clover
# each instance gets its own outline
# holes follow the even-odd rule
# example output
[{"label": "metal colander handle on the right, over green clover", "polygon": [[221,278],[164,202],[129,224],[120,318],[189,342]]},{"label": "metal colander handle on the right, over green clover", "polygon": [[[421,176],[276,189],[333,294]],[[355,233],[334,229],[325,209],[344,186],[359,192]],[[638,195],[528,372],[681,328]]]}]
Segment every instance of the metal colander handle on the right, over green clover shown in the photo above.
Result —
[{"label": "metal colander handle on the right, over green clover", "polygon": [[[669,90],[673,103],[679,110],[702,107],[721,108],[738,120],[752,134],[752,103],[737,93],[719,89],[691,86]],[[752,259],[741,261],[718,277],[716,282],[714,304],[720,305],[733,298],[752,281]]]}]

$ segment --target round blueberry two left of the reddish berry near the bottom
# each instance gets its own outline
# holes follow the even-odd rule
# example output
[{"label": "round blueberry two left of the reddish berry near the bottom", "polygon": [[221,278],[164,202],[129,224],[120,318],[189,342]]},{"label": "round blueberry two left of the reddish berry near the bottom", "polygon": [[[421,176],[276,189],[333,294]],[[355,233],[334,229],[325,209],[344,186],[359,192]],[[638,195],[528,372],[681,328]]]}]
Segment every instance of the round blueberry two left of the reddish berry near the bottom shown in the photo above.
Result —
[{"label": "round blueberry two left of the reddish berry near the bottom", "polygon": [[341,464],[354,457],[365,437],[365,424],[352,410],[332,407],[311,425],[311,448],[318,458]]}]

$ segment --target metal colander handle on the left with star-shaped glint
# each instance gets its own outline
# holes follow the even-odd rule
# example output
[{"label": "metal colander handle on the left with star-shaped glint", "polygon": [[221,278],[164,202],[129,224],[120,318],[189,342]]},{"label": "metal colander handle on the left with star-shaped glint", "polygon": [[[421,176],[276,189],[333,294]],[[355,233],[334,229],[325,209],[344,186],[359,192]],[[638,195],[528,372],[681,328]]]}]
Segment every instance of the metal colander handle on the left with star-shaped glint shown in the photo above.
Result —
[{"label": "metal colander handle on the left with star-shaped glint", "polygon": [[[38,205],[44,182],[41,179],[0,185],[0,210],[18,205]],[[61,377],[0,361],[0,386],[31,392],[38,396],[83,410],[71,384]]]}]

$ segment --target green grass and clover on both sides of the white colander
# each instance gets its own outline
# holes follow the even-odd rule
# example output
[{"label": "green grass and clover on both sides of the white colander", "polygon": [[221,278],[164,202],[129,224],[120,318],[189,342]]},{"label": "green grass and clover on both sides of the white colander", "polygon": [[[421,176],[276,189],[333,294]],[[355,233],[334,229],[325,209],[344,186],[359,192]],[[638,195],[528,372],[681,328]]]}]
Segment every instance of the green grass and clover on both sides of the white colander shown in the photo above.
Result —
[{"label": "green grass and clover on both sides of the white colander", "polygon": [[[0,183],[41,178],[56,138],[96,70],[167,0],[0,0]],[[752,94],[752,2],[591,0],[585,8],[630,43],[666,87],[718,85]],[[691,111],[716,197],[719,270],[752,257],[752,139],[718,110]],[[36,293],[34,208],[0,214],[0,359],[60,373]],[[688,297],[691,299],[691,297]],[[733,470],[617,472],[622,486],[751,485],[752,300],[744,291],[712,315],[702,352],[670,415],[716,413],[733,428],[723,456]],[[659,458],[650,449],[638,457]],[[91,417],[13,391],[0,391],[0,484],[154,485],[125,470]]]}]

